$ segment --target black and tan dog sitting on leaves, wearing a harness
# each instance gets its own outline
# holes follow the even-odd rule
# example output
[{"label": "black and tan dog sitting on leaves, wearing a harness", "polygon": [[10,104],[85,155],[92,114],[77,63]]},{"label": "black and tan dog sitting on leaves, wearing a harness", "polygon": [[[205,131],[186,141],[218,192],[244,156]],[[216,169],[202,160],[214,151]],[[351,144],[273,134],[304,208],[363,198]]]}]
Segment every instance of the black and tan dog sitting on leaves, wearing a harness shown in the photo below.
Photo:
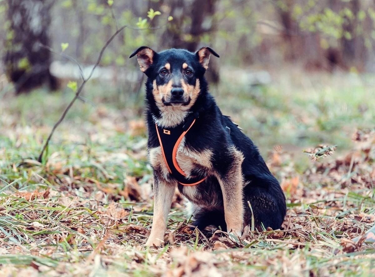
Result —
[{"label": "black and tan dog sitting on leaves, wearing a harness", "polygon": [[210,54],[219,57],[208,47],[196,53],[140,47],[130,55],[137,56],[147,75],[154,217],[146,245],[163,244],[176,185],[193,204],[193,225],[199,229],[216,225],[240,236],[253,215],[258,230],[278,229],[284,220],[285,196],[278,181],[250,138],[207,91]]}]

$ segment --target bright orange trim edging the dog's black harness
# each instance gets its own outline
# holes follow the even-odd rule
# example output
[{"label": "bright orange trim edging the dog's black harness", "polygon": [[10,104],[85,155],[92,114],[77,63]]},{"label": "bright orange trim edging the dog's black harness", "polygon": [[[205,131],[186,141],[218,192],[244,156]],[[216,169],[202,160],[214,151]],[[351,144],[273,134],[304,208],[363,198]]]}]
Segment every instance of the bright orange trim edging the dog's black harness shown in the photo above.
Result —
[{"label": "bright orange trim edging the dog's black harness", "polygon": [[[168,168],[168,171],[169,171],[169,173],[171,173],[172,176],[174,176],[175,179],[177,179],[178,183],[180,183],[181,185],[184,185],[184,186],[198,185],[199,183],[201,183],[205,179],[207,179],[207,177],[204,177],[203,179],[200,179],[199,181],[196,181],[196,178],[195,178],[195,180],[191,180],[191,181],[193,181],[193,183],[189,183],[189,179],[186,178],[186,173],[183,172],[183,170],[181,169],[181,167],[177,163],[177,158],[176,157],[177,157],[178,146],[180,146],[180,143],[181,143],[183,137],[190,130],[190,128],[194,125],[194,123],[195,123],[195,119],[190,124],[189,128],[186,131],[183,131],[182,134],[178,137],[177,142],[173,146],[172,159],[170,159],[170,157],[168,157],[169,159],[167,159],[167,157],[165,155],[165,149],[163,147],[163,142],[162,142],[162,138],[160,136],[159,127],[155,123],[157,138],[159,139],[160,148],[161,148],[161,151],[162,151],[162,154],[163,154],[163,158],[164,158],[165,164],[166,164],[166,166]],[[169,136],[169,135],[171,135],[172,132],[175,132],[175,131],[174,130],[169,131],[169,130],[163,129],[163,132],[162,132],[163,138],[165,138],[165,139],[168,138],[165,135]],[[173,135],[175,135],[175,134],[172,134],[172,137],[173,137]],[[172,161],[172,164],[170,164],[170,162],[168,163],[168,160]],[[171,169],[172,166],[174,167],[173,170]],[[180,174],[182,176],[178,176],[178,174]],[[181,179],[184,179],[184,181],[182,182]]]}]

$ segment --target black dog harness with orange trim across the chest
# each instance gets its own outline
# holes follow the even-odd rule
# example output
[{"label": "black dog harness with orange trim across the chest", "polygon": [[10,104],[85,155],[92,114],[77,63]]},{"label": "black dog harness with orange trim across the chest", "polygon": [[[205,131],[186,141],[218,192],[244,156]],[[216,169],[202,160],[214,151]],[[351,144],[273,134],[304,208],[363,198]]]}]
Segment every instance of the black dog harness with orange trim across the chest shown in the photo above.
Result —
[{"label": "black dog harness with orange trim across the chest", "polygon": [[181,140],[194,125],[198,117],[199,112],[190,114],[185,122],[182,122],[173,128],[167,129],[161,128],[155,123],[160,148],[162,150],[163,158],[166,166],[168,167],[169,173],[171,173],[178,183],[184,186],[198,185],[207,178],[202,178],[202,176],[186,178],[186,174],[183,172],[180,166],[178,166],[176,159],[177,149],[181,143]]}]

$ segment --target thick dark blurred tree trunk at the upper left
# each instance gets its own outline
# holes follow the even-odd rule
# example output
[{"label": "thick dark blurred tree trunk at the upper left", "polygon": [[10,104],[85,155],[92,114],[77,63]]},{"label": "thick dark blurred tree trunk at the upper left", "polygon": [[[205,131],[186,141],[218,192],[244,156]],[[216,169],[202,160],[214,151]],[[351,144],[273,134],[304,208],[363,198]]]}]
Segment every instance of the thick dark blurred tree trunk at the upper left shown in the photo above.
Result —
[{"label": "thick dark blurred tree trunk at the upper left", "polygon": [[53,0],[7,1],[9,29],[4,64],[17,94],[43,84],[56,89],[56,80],[49,72],[51,52],[40,45],[50,45],[49,11],[53,3]]}]

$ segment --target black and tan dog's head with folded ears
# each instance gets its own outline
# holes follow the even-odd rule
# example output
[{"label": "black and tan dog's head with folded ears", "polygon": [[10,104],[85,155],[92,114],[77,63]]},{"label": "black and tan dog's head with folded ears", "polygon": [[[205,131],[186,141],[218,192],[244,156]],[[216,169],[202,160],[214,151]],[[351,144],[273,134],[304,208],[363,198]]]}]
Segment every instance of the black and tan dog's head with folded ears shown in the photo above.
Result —
[{"label": "black and tan dog's head with folded ears", "polygon": [[138,48],[129,58],[137,56],[139,67],[153,84],[152,95],[159,108],[191,107],[197,99],[210,54],[219,55],[209,47],[191,53],[183,49],[169,49],[156,53],[149,47]]}]

